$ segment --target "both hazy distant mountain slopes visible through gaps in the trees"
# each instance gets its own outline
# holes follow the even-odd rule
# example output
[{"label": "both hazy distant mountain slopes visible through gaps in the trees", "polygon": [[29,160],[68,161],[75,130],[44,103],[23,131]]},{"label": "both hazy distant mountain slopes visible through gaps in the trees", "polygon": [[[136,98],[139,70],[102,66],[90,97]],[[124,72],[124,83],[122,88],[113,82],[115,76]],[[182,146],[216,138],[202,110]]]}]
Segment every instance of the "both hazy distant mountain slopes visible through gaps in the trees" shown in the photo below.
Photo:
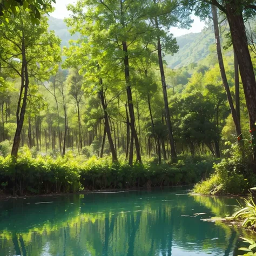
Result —
[{"label": "both hazy distant mountain slopes visible through gaps in the trees", "polygon": [[[70,35],[69,29],[63,19],[49,17],[49,30],[54,30],[56,35],[62,39],[62,47],[69,46],[69,40],[78,39],[79,35]],[[189,33],[177,37],[179,51],[174,56],[166,55],[165,60],[172,69],[187,66],[192,62],[204,59],[209,53],[209,46],[214,43],[214,32],[212,30],[200,33]]]}]

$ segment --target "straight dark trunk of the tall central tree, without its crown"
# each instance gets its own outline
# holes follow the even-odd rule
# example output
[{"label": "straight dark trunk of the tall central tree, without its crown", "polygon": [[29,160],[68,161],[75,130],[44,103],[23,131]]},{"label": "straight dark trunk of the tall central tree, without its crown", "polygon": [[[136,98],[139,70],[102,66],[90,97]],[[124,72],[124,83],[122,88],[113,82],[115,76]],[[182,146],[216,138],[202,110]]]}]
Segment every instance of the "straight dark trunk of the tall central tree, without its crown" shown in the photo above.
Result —
[{"label": "straight dark trunk of the tall central tree, without its crown", "polygon": [[[126,93],[127,93],[127,99],[128,99],[128,107],[129,107],[129,113],[130,113],[130,126],[131,126],[131,140],[134,138],[135,147],[136,147],[136,161],[139,161],[139,163],[142,163],[142,157],[140,155],[140,147],[139,147],[139,139],[137,135],[137,131],[135,129],[135,116],[134,116],[134,108],[133,108],[133,102],[132,102],[132,91],[131,91],[131,82],[130,82],[130,71],[129,71],[129,58],[127,53],[127,44],[126,42],[122,42],[123,45],[123,51],[125,52],[125,58],[124,58],[124,65],[125,65],[125,82],[126,82]],[[131,142],[131,145],[133,143]],[[129,164],[132,165],[132,159],[129,158]]]}]

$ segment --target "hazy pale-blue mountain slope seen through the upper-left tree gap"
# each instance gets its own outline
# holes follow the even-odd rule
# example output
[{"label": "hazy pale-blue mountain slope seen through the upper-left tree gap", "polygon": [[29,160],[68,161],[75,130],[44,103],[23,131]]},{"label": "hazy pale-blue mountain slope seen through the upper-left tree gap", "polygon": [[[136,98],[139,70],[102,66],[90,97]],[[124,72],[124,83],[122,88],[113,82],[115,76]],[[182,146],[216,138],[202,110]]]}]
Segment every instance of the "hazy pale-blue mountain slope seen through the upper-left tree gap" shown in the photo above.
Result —
[{"label": "hazy pale-blue mountain slope seen through the upper-left tree gap", "polygon": [[61,46],[69,46],[69,41],[71,39],[76,40],[78,39],[79,35],[75,34],[73,36],[70,35],[68,26],[66,26],[66,23],[64,22],[63,19],[57,19],[53,18],[51,16],[49,18],[49,30],[55,31],[56,35],[62,39],[62,44]]}]

